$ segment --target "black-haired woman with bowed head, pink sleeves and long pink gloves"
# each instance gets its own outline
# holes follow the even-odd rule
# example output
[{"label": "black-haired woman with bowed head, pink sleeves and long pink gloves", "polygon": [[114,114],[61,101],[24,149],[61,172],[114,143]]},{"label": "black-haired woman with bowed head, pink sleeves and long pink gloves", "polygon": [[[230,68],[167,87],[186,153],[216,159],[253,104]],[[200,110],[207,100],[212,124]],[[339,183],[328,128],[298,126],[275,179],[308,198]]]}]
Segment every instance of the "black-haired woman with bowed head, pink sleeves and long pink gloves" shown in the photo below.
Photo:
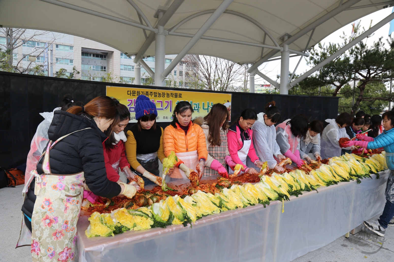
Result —
[{"label": "black-haired woman with bowed head, pink sleeves and long pink gloves", "polygon": [[287,119],[276,126],[276,141],[281,149],[282,155],[292,159],[297,167],[301,167],[304,161],[299,155],[299,143],[308,131],[309,121],[303,114]]}]

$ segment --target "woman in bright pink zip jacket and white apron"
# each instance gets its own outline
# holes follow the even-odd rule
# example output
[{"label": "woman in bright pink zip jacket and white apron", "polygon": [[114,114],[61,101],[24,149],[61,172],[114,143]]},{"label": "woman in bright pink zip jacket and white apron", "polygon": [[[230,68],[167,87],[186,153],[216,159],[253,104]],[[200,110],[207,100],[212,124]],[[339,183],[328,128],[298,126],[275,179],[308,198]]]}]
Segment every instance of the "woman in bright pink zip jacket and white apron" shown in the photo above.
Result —
[{"label": "woman in bright pink zip jacket and white apron", "polygon": [[230,156],[226,156],[225,161],[229,165],[229,174],[234,174],[236,164],[243,165],[243,172],[249,174],[258,174],[256,169],[249,168],[245,165],[246,158],[249,156],[252,163],[262,167],[262,162],[258,160],[255,148],[253,147],[252,125],[257,120],[257,114],[253,109],[245,109],[241,116],[230,126],[227,132],[227,144],[229,146]]}]

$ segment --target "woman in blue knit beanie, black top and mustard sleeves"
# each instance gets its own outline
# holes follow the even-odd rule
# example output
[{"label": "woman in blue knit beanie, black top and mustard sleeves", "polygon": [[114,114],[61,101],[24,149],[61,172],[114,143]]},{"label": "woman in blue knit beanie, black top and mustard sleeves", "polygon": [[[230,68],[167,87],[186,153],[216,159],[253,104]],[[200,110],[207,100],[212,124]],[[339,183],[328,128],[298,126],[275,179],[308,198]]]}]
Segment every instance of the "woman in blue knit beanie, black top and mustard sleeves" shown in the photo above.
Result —
[{"label": "woman in blue knit beanie, black top and mustard sleeves", "polygon": [[145,95],[136,100],[137,123],[127,132],[126,154],[131,169],[141,176],[145,185],[161,184],[159,162],[165,158],[163,128],[156,123],[156,105]]}]

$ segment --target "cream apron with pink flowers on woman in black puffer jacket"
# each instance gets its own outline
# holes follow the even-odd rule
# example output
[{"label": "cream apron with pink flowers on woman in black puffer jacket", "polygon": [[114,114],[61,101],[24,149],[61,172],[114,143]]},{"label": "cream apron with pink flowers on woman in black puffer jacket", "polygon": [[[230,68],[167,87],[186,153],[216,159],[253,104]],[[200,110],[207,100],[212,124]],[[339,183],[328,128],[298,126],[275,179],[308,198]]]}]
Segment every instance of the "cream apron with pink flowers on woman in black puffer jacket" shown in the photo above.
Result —
[{"label": "cream apron with pink flowers on woman in black puffer jacket", "polygon": [[52,174],[49,163],[50,149],[68,135],[60,137],[54,143],[49,141],[43,155],[44,173],[40,176],[34,170],[34,194],[37,198],[32,214],[33,262],[74,261],[76,223],[82,204],[84,171],[67,175]]}]

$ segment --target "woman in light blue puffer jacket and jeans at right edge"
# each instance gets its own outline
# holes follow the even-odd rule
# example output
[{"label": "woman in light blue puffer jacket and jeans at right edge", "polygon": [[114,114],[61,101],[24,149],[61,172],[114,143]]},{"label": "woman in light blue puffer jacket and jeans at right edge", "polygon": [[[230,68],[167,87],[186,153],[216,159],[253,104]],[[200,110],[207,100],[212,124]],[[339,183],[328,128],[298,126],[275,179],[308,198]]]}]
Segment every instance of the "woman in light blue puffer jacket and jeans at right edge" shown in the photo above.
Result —
[{"label": "woman in light blue puffer jacket and jeans at right edge", "polygon": [[377,221],[364,221],[364,225],[379,236],[385,236],[387,226],[394,225],[394,112],[389,111],[382,115],[385,130],[379,136],[372,138],[357,134],[359,141],[348,141],[345,147],[361,146],[362,148],[381,148],[386,151],[386,163],[390,174],[386,186],[386,205],[383,214]]}]

